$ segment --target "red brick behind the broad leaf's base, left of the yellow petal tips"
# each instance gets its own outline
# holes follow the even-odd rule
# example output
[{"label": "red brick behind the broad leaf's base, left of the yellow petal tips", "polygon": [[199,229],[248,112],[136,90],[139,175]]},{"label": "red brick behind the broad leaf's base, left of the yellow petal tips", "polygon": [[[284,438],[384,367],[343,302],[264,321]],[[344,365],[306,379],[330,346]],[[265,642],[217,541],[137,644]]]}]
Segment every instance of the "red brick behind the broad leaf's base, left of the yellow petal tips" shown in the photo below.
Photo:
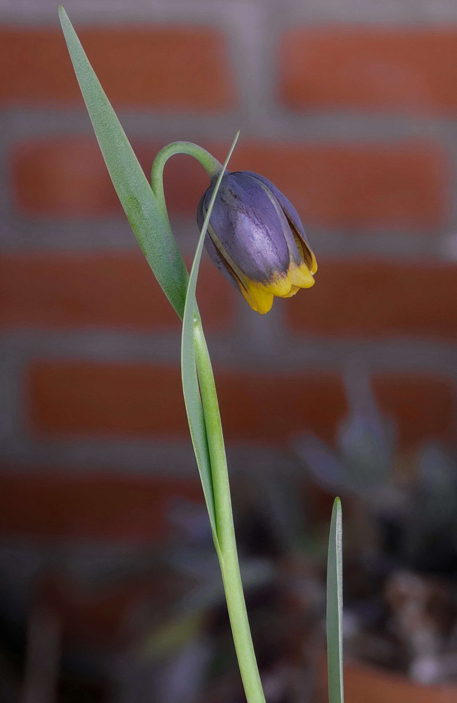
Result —
[{"label": "red brick behind the broad leaf's base, left of the yellow petal tips", "polygon": [[[213,264],[202,265],[197,296],[207,330],[229,328],[237,295]],[[148,332],[181,323],[141,253],[0,256],[0,328],[88,326]]]}]

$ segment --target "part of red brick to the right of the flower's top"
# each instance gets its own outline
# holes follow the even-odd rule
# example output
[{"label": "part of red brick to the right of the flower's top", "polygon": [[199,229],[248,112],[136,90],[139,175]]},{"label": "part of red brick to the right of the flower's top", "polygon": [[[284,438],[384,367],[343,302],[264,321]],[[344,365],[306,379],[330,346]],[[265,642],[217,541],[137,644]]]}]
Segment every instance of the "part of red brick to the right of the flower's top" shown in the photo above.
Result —
[{"label": "part of red brick to the right of the flower's top", "polygon": [[263,174],[306,224],[433,228],[449,202],[446,158],[432,143],[252,143],[231,169]]}]

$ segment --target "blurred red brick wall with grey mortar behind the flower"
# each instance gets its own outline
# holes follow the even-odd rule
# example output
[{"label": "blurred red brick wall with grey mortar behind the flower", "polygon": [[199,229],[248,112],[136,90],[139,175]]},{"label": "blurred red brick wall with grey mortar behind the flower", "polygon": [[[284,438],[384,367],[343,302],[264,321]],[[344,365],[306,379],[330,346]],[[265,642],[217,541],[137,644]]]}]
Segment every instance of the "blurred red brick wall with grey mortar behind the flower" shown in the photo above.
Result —
[{"label": "blurred red brick wall with grey mortar behind the flower", "polygon": [[[179,324],[117,204],[55,4],[0,8],[0,496],[10,507],[0,529],[118,538],[117,523],[138,539],[129,524],[138,481],[141,515],[157,510],[159,485],[195,495]],[[264,317],[202,265],[231,470],[289,461],[290,440],[307,429],[331,441],[354,352],[406,446],[451,437],[456,4],[67,0],[66,9],[146,172],[176,139],[223,158],[240,128],[231,166],[290,197],[316,252],[316,286]],[[190,259],[206,177],[174,157],[165,181]],[[87,518],[94,485],[108,522]]]}]

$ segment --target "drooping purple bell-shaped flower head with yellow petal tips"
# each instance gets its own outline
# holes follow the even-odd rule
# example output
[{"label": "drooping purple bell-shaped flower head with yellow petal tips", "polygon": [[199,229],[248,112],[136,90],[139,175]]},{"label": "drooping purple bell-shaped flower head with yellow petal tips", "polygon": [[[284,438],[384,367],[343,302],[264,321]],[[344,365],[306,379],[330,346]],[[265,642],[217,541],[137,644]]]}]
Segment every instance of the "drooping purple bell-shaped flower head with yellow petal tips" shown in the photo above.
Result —
[{"label": "drooping purple bell-shaped flower head with yellow petal tips", "polygon": [[[201,228],[215,179],[203,193]],[[264,314],[273,297],[288,298],[314,285],[316,259],[292,203],[264,176],[226,172],[214,202],[205,246],[219,271]]]}]

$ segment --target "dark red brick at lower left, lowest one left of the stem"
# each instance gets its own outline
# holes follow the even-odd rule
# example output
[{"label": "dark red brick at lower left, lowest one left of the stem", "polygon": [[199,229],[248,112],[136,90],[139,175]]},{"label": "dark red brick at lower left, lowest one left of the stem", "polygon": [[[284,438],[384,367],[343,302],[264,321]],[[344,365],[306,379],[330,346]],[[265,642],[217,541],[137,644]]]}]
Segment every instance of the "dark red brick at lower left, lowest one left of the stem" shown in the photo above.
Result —
[{"label": "dark red brick at lower left, lowest one left of the stem", "polygon": [[202,503],[195,479],[0,472],[0,535],[149,542],[169,536],[174,501]]}]

